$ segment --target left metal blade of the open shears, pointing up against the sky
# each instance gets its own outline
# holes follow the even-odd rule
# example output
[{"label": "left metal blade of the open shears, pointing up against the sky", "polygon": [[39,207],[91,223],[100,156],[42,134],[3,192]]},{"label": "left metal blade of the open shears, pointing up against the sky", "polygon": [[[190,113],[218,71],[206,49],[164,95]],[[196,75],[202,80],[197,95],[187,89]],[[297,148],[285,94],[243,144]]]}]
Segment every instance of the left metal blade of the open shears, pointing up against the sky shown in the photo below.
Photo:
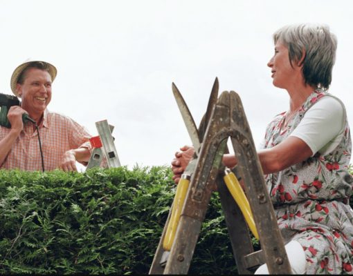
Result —
[{"label": "left metal blade of the open shears, pointing up against the sky", "polygon": [[185,103],[183,96],[181,96],[181,93],[174,83],[172,83],[172,90],[174,98],[177,101],[179,110],[181,112],[181,116],[183,117],[185,126],[188,130],[192,146],[194,146],[195,152],[198,152],[200,148],[199,130],[197,130],[197,126],[194,122],[194,119],[192,118],[188,105]]}]

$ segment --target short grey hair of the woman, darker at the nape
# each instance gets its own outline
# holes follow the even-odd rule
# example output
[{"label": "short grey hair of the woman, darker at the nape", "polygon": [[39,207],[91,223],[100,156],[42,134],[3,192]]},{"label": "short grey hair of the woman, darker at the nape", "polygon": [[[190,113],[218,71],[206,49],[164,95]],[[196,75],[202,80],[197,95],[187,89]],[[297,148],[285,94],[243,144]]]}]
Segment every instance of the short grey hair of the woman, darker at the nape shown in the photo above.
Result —
[{"label": "short grey hair of the woman, darker at the nape", "polygon": [[337,38],[329,26],[318,24],[289,25],[273,34],[274,43],[287,46],[289,61],[302,61],[305,83],[327,90],[336,60]]}]

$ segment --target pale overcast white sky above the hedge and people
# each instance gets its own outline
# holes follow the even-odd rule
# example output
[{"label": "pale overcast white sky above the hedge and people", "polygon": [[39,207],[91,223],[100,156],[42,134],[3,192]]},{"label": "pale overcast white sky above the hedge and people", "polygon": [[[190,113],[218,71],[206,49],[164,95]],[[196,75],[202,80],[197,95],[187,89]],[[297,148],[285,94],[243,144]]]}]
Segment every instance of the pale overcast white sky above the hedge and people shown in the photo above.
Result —
[{"label": "pale overcast white sky above the hedge and people", "polygon": [[53,63],[51,111],[98,135],[115,126],[122,165],[169,165],[191,144],[174,82],[197,125],[212,83],[239,94],[258,146],[266,124],[289,108],[266,66],[272,34],[290,23],[325,23],[338,38],[329,92],[353,124],[353,1],[0,0],[0,92],[28,58]]}]

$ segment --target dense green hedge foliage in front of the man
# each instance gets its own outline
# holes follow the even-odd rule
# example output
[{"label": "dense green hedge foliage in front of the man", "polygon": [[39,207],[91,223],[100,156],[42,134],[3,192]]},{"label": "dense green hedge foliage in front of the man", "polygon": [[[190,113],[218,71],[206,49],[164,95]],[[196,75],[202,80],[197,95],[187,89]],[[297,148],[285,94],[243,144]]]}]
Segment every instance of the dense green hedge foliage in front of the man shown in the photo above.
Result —
[{"label": "dense green hedge foliage in front of the man", "polygon": [[[147,274],[175,187],[166,167],[0,170],[0,273]],[[190,274],[236,274],[217,193]]]}]

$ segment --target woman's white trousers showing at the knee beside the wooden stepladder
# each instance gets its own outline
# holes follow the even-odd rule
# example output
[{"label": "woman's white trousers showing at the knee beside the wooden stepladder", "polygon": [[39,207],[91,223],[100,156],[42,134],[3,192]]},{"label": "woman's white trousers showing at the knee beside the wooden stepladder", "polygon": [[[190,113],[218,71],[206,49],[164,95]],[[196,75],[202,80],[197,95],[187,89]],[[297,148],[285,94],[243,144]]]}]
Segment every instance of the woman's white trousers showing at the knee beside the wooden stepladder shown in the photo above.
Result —
[{"label": "woman's white trousers showing at the knee beside the wooden stepladder", "polygon": [[[305,265],[307,263],[305,258],[304,249],[297,241],[291,241],[284,246],[287,252],[289,264],[291,265],[291,273],[293,274],[305,274]],[[269,270],[266,264],[262,264],[255,271],[255,274],[269,275]]]}]

